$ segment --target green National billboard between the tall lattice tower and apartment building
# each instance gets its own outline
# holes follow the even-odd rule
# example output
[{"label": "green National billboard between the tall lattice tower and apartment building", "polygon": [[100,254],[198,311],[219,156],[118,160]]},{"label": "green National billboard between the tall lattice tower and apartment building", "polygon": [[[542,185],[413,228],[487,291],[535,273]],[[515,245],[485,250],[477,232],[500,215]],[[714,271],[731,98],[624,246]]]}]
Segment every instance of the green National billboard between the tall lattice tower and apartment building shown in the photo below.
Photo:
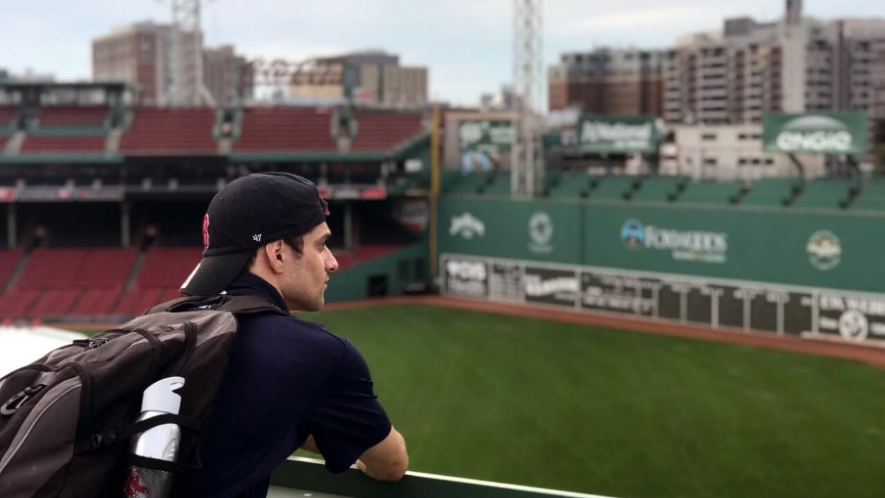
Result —
[{"label": "green National billboard between the tall lattice tower and apartment building", "polygon": [[653,116],[582,116],[578,146],[583,152],[657,152],[658,128]]}]

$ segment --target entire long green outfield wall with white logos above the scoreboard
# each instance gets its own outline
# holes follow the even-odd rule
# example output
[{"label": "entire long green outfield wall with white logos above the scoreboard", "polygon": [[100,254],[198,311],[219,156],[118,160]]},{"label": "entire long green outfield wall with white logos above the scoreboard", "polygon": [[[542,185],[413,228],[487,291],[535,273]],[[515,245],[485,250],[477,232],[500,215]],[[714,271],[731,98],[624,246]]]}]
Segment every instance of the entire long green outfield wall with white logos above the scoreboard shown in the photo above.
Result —
[{"label": "entire long green outfield wall with white logos above the scoreboard", "polygon": [[885,292],[885,216],[451,196],[439,230],[440,253]]}]

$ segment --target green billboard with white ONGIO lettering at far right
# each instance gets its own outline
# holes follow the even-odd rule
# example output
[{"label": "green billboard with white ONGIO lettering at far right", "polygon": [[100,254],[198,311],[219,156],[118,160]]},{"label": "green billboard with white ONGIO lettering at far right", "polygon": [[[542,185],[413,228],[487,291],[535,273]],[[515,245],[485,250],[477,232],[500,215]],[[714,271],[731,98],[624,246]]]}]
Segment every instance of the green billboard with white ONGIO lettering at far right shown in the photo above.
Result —
[{"label": "green billboard with white ONGIO lettering at far right", "polygon": [[869,120],[863,111],[766,113],[766,152],[863,154],[869,150]]}]

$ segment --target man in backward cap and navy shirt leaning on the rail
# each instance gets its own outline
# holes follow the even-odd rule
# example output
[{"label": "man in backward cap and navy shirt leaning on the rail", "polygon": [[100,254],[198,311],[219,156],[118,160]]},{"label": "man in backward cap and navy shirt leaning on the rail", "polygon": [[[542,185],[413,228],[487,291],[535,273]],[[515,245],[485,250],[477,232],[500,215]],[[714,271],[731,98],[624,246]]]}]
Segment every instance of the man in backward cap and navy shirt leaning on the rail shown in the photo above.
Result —
[{"label": "man in backward cap and navy shirt leaning on the rail", "polygon": [[[181,286],[189,295],[256,295],[284,311],[317,311],[338,268],[326,201],[297,175],[243,176],[212,198],[203,259]],[[368,476],[402,479],[403,436],[373,393],[356,347],[317,323],[245,315],[204,432],[204,469],[189,496],[261,497],[273,469],[298,447],[329,471],[353,463]]]}]

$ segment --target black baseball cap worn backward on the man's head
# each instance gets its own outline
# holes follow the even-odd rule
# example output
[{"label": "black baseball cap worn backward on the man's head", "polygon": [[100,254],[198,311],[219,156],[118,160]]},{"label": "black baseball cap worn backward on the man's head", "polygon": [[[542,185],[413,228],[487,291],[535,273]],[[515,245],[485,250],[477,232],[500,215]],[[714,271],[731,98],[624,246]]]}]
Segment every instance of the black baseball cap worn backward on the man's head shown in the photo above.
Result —
[{"label": "black baseball cap worn backward on the man's head", "polygon": [[203,218],[203,259],[181,292],[218,294],[234,281],[258,247],[299,237],[326,221],[316,185],[291,173],[255,173],[227,183]]}]

